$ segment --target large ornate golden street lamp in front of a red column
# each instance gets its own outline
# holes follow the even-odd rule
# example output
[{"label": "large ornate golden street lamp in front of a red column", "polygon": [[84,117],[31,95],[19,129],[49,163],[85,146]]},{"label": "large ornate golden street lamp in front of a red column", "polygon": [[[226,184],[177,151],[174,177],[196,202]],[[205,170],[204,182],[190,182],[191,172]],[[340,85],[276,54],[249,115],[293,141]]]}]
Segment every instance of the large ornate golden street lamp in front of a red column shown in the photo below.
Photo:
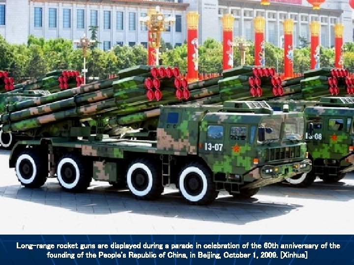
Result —
[{"label": "large ornate golden street lamp in front of a red column", "polygon": [[156,8],[149,9],[147,16],[140,17],[139,21],[148,26],[148,62],[152,65],[158,65],[161,32],[171,27],[176,22],[176,18],[173,16],[165,18],[160,7],[156,6]]}]

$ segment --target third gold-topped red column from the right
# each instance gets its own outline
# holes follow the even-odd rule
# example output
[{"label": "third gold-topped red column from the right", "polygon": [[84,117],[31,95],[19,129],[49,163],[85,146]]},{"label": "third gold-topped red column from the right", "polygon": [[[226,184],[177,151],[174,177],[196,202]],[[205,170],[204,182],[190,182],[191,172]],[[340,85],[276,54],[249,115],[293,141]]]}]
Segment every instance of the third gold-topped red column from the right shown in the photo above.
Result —
[{"label": "third gold-topped red column from the right", "polygon": [[284,28],[284,76],[292,78],[294,75],[294,49],[293,49],[293,30],[294,21],[285,19],[283,21]]}]

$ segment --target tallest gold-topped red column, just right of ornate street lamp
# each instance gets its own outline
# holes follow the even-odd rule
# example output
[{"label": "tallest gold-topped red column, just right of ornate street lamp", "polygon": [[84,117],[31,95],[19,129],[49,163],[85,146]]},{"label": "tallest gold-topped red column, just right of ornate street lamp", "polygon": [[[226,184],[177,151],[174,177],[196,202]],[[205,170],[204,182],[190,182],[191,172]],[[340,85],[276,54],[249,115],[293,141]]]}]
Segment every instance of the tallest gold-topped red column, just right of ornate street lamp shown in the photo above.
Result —
[{"label": "tallest gold-topped red column, just right of ornate street lamp", "polygon": [[187,13],[187,81],[198,81],[198,23],[196,11]]}]

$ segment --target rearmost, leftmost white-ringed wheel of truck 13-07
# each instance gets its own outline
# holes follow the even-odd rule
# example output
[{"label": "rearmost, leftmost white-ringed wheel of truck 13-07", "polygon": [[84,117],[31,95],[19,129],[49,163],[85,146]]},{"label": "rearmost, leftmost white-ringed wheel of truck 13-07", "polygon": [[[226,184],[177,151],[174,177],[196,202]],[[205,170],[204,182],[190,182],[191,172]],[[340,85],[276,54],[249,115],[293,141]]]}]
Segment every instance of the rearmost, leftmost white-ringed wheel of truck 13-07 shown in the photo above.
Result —
[{"label": "rearmost, leftmost white-ringed wheel of truck 13-07", "polygon": [[45,159],[41,159],[32,150],[20,153],[16,160],[15,171],[18,180],[22,185],[29,188],[43,186],[48,177]]}]

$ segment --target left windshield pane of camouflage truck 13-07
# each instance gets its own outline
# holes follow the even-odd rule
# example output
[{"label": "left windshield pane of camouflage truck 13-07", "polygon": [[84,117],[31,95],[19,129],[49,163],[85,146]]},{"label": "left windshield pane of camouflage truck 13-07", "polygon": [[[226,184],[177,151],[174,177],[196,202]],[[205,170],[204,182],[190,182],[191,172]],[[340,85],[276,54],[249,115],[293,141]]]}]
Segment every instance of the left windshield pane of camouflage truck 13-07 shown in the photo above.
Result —
[{"label": "left windshield pane of camouflage truck 13-07", "polygon": [[281,119],[267,118],[258,127],[258,142],[264,143],[280,138]]}]

